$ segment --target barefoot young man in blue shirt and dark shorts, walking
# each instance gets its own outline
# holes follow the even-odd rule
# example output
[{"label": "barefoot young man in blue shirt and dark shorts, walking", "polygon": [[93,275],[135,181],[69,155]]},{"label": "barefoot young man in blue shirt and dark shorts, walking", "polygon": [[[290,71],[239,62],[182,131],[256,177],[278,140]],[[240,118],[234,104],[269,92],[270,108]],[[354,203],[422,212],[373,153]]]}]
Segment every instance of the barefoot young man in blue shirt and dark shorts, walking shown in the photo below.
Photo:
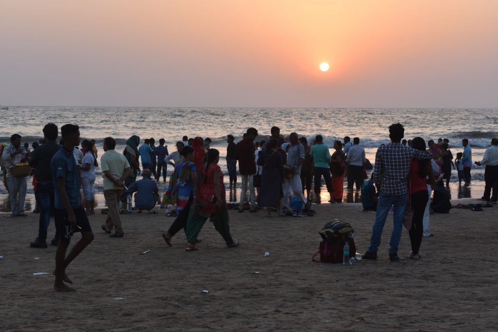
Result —
[{"label": "barefoot young man in blue shirt and dark shorts, walking", "polygon": [[[54,184],[55,225],[59,235],[59,246],[55,254],[54,289],[71,292],[73,288],[64,282],[73,282],[66,275],[66,268],[94,239],[87,214],[81,205],[78,167],[73,156],[75,146],[80,145],[79,127],[66,124],[61,128],[63,147],[50,162]],[[73,233],[81,232],[81,240],[74,245],[66,257],[66,250]]]}]

